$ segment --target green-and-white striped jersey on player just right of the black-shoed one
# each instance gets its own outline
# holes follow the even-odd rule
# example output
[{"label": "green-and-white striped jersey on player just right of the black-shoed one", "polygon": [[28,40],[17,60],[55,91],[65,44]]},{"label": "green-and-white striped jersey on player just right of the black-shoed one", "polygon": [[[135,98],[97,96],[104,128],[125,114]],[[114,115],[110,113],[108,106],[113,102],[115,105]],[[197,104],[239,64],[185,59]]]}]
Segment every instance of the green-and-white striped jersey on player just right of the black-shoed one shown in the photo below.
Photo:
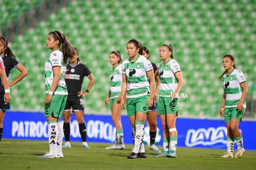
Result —
[{"label": "green-and-white striped jersey on player just right of the black-shoed one", "polygon": [[175,59],[169,59],[166,64],[163,61],[161,62],[159,67],[159,96],[170,97],[171,93],[174,93],[178,83],[175,74],[180,71],[179,63]]}]

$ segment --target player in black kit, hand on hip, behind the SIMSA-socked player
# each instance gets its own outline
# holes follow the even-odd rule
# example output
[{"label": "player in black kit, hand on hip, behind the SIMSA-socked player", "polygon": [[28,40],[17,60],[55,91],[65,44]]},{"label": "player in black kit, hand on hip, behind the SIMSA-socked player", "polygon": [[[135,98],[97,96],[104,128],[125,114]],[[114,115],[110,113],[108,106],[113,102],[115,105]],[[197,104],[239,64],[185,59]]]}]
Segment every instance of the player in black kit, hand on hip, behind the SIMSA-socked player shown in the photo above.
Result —
[{"label": "player in black kit, hand on hip, behind the SIMSA-socked player", "polygon": [[[75,56],[72,59],[69,59],[69,64],[67,64],[66,70],[66,83],[67,83],[67,103],[63,112],[63,130],[65,136],[65,144],[62,147],[71,147],[70,144],[70,114],[71,108],[75,113],[75,117],[79,124],[79,132],[82,138],[82,148],[90,148],[87,144],[87,133],[86,133],[86,125],[83,119],[83,96],[88,95],[89,91],[93,87],[95,82],[95,78],[92,72],[88,69],[87,66],[79,62],[79,50],[75,49]],[[82,91],[83,78],[88,77],[90,82],[88,84],[87,90]]]}]

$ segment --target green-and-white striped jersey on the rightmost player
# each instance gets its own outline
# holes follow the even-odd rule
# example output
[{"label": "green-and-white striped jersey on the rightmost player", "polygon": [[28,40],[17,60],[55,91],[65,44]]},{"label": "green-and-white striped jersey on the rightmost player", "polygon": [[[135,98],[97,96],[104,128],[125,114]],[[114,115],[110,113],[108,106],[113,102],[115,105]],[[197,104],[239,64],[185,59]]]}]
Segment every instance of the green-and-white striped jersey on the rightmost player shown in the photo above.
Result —
[{"label": "green-and-white striped jersey on the rightmost player", "polygon": [[[233,108],[237,106],[242,96],[241,83],[245,82],[244,74],[237,69],[233,69],[231,74],[223,75],[223,88],[226,93],[225,108]],[[245,100],[243,101],[244,108],[246,108]]]}]

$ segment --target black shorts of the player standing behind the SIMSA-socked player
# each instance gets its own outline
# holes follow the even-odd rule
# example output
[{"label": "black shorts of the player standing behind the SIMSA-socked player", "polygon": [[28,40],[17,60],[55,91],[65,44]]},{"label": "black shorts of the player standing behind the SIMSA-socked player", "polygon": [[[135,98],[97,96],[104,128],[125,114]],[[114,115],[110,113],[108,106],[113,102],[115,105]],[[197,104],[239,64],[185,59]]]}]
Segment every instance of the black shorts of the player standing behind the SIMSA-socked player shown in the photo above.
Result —
[{"label": "black shorts of the player standing behind the SIMSA-socked player", "polygon": [[83,98],[80,98],[79,96],[67,96],[67,103],[64,111],[70,111],[71,108],[73,112],[83,111],[84,110]]}]

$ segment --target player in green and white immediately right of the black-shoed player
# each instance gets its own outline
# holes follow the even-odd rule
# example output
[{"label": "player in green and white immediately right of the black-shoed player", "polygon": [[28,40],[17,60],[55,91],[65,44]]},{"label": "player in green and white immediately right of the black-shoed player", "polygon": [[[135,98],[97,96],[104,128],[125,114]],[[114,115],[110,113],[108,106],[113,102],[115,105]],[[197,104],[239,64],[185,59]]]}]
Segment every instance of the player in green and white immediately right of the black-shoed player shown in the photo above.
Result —
[{"label": "player in green and white immediately right of the black-shoed player", "polygon": [[160,155],[154,157],[176,158],[177,147],[177,109],[179,108],[179,92],[183,85],[183,77],[179,63],[173,59],[173,47],[162,45],[160,48],[162,60],[158,69],[160,87],[158,92],[158,115],[163,126],[163,149]]}]

